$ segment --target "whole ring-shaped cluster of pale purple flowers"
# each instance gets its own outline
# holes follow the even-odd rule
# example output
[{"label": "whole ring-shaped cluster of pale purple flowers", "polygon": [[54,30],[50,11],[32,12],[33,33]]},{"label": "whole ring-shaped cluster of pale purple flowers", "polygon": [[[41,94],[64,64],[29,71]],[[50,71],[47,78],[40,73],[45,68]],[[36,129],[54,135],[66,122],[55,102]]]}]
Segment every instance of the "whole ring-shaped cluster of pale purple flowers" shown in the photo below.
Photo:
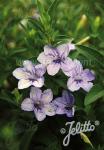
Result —
[{"label": "whole ring-shaped cluster of pale purple flowers", "polygon": [[[33,111],[38,121],[42,121],[47,116],[56,114],[66,114],[67,117],[74,116],[74,97],[70,91],[77,91],[80,88],[89,91],[95,76],[89,69],[83,69],[78,60],[68,57],[70,51],[75,50],[75,45],[66,43],[58,47],[44,46],[44,52],[40,53],[37,60],[40,64],[33,64],[26,60],[23,67],[13,71],[13,76],[19,80],[18,89],[31,86],[30,97],[24,99],[21,109]],[[51,89],[42,92],[40,89],[44,85],[44,74],[54,76],[59,70],[68,77],[68,90],[63,90],[62,97],[53,99]]]}]

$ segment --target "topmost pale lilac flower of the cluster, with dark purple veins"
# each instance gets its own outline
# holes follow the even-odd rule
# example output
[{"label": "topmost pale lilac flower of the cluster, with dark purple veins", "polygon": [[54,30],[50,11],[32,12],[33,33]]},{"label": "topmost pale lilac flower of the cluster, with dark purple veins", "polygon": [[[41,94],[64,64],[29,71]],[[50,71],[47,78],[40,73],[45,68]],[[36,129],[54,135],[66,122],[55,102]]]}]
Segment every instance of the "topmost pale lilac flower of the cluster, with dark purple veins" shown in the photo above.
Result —
[{"label": "topmost pale lilac flower of the cluster, with dark purple veins", "polygon": [[49,75],[54,76],[60,69],[65,73],[65,66],[70,66],[72,63],[68,54],[74,49],[75,45],[71,43],[62,44],[56,48],[46,45],[44,52],[40,53],[37,60],[47,67]]}]

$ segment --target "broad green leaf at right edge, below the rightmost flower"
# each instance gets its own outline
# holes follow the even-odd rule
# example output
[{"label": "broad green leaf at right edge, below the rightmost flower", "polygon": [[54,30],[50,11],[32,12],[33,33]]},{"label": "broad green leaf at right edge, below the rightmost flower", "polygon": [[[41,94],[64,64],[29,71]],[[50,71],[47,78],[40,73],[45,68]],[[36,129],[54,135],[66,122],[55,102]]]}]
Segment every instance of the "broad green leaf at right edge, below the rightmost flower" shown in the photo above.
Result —
[{"label": "broad green leaf at right edge, below the rightmost flower", "polygon": [[104,87],[100,84],[96,84],[92,87],[90,92],[86,95],[84,105],[89,105],[99,98],[104,96]]}]

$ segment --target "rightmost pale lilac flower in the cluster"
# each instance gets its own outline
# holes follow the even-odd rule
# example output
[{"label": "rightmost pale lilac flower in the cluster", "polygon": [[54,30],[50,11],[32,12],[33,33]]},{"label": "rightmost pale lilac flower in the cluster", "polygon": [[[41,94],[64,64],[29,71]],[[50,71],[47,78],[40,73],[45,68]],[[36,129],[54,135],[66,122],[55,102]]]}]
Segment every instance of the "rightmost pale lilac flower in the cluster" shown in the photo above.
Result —
[{"label": "rightmost pale lilac flower in the cluster", "polygon": [[88,92],[92,88],[93,83],[91,81],[95,79],[95,75],[89,69],[83,69],[80,61],[74,60],[72,68],[69,70],[67,68],[66,72],[70,76],[67,82],[70,91],[77,91],[82,88]]}]

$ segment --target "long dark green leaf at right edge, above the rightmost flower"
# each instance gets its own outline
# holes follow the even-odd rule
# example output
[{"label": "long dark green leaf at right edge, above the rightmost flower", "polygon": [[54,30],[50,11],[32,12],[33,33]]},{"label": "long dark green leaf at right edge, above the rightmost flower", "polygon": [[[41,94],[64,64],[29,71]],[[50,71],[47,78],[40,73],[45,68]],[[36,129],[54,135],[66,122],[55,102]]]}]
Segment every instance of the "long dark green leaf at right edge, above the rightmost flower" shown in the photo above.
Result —
[{"label": "long dark green leaf at right edge, above the rightmost flower", "polygon": [[89,60],[95,60],[101,67],[104,68],[104,56],[99,51],[90,47],[77,45],[80,54],[84,55]]}]

